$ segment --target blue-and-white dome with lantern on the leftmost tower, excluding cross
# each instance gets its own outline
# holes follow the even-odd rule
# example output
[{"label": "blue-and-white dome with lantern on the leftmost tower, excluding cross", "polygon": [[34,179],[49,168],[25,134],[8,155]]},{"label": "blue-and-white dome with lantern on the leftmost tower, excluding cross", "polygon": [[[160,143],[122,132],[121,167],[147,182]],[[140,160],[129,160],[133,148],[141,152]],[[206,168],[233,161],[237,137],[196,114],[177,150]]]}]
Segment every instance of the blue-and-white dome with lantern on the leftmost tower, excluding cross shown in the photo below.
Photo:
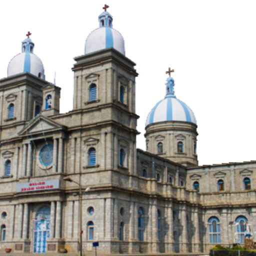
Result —
[{"label": "blue-and-white dome with lantern on the leftmost tower, excluding cross", "polygon": [[39,57],[33,54],[34,43],[30,38],[22,41],[22,52],[14,56],[8,65],[7,76],[29,72],[45,79],[44,68]]}]

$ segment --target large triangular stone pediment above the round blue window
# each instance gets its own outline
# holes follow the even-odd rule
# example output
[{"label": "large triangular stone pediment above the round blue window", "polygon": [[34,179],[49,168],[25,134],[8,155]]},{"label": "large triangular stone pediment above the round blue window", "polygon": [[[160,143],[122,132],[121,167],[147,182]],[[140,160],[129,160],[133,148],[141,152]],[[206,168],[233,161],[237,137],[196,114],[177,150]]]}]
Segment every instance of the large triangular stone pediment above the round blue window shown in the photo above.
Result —
[{"label": "large triangular stone pediment above the round blue window", "polygon": [[20,136],[27,134],[41,134],[63,129],[66,129],[66,127],[58,122],[53,121],[46,116],[37,115],[33,121],[29,122],[18,134]]}]

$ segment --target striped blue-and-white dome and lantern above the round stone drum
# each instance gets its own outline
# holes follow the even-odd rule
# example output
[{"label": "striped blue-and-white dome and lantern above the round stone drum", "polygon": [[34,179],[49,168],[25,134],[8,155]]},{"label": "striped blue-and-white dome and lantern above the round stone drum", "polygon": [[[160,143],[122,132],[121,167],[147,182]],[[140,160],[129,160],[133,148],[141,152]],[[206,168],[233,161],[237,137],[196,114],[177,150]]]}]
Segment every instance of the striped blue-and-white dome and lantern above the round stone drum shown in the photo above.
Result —
[{"label": "striped blue-and-white dome and lantern above the round stone drum", "polygon": [[192,110],[174,95],[174,80],[167,78],[166,95],[149,112],[146,119],[146,126],[162,121],[186,121],[196,124]]}]

